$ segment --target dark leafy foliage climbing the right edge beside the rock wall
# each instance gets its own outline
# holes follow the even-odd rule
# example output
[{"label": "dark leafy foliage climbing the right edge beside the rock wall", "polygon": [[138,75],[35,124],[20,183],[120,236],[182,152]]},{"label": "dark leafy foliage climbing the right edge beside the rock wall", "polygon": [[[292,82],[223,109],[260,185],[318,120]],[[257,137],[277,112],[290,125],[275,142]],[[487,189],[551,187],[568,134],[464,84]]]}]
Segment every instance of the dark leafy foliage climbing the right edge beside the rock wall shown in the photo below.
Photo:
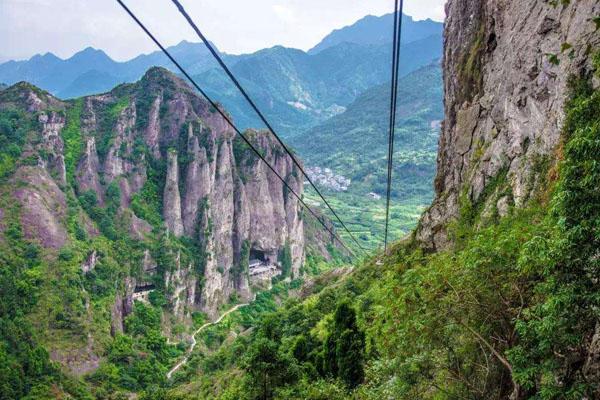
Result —
[{"label": "dark leafy foliage climbing the right edge beside the rock wall", "polygon": [[[596,64],[600,71],[600,63]],[[600,91],[587,79],[573,79],[566,107],[563,161],[553,197],[555,223],[549,235],[529,246],[522,264],[540,279],[536,300],[516,324],[521,343],[509,355],[515,378],[538,398],[580,398],[598,394],[598,382],[588,381],[566,353],[585,354],[598,323],[600,275],[597,263],[600,221],[598,150]]]}]

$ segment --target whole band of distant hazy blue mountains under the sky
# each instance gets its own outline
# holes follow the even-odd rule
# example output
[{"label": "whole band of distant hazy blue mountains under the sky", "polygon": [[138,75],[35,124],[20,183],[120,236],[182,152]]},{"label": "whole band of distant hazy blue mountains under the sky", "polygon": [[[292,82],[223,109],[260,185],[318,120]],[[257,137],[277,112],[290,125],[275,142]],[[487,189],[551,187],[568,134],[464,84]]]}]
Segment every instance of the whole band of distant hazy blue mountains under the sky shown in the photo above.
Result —
[{"label": "whole band of distant hazy blue mountains under the sky", "polygon": [[[308,53],[276,46],[222,56],[275,128],[284,135],[297,133],[343,112],[360,93],[389,80],[392,21],[391,14],[367,16],[335,30]],[[441,57],[442,24],[408,16],[403,22],[405,75]],[[169,51],[240,126],[261,126],[202,43],[183,41]],[[68,99],[133,82],[152,66],[175,71],[161,52],[117,62],[102,50],[87,48],[66,60],[46,53],[0,64],[0,82],[25,80]]]}]

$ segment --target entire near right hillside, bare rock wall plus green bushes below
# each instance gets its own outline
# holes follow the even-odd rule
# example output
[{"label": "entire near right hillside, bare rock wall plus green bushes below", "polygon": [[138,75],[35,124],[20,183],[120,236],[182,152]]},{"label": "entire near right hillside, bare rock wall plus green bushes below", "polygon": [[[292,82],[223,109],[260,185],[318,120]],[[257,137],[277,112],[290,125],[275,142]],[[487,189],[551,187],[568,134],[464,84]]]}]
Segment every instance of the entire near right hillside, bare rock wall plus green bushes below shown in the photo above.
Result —
[{"label": "entire near right hillside, bare rock wall plus green bushes below", "polygon": [[[436,197],[419,229],[307,298],[206,332],[167,398],[600,398],[600,4],[505,6],[448,3]],[[543,138],[510,145],[524,135]]]}]

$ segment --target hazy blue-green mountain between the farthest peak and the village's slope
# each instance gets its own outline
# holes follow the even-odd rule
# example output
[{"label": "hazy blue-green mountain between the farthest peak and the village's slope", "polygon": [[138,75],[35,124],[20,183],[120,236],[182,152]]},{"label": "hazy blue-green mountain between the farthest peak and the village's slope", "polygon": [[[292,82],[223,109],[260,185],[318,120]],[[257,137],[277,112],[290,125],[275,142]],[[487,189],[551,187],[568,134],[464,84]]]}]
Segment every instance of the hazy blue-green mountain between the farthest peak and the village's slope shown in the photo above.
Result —
[{"label": "hazy blue-green mountain between the farthest peak and the village's slope", "polygon": [[[407,74],[438,59],[440,37],[402,47]],[[278,131],[291,136],[338,114],[357,95],[389,80],[390,48],[341,43],[318,54],[274,47],[240,57],[231,66]],[[245,127],[262,126],[227,77],[209,70],[195,77]]]}]

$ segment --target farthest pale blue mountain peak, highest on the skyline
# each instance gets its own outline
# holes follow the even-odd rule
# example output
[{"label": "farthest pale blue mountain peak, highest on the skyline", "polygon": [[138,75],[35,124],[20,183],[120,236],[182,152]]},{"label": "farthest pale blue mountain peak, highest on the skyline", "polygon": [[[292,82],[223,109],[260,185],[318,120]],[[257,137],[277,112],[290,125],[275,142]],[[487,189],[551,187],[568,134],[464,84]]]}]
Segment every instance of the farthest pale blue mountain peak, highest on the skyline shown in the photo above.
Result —
[{"label": "farthest pale blue mountain peak, highest on the skyline", "polygon": [[[408,15],[402,15],[402,42],[408,44],[429,36],[442,36],[444,24],[430,19],[415,21]],[[308,51],[309,54],[319,53],[340,43],[356,43],[365,45],[380,45],[390,43],[394,30],[394,14],[381,17],[368,15],[350,26],[336,29]]]}]

